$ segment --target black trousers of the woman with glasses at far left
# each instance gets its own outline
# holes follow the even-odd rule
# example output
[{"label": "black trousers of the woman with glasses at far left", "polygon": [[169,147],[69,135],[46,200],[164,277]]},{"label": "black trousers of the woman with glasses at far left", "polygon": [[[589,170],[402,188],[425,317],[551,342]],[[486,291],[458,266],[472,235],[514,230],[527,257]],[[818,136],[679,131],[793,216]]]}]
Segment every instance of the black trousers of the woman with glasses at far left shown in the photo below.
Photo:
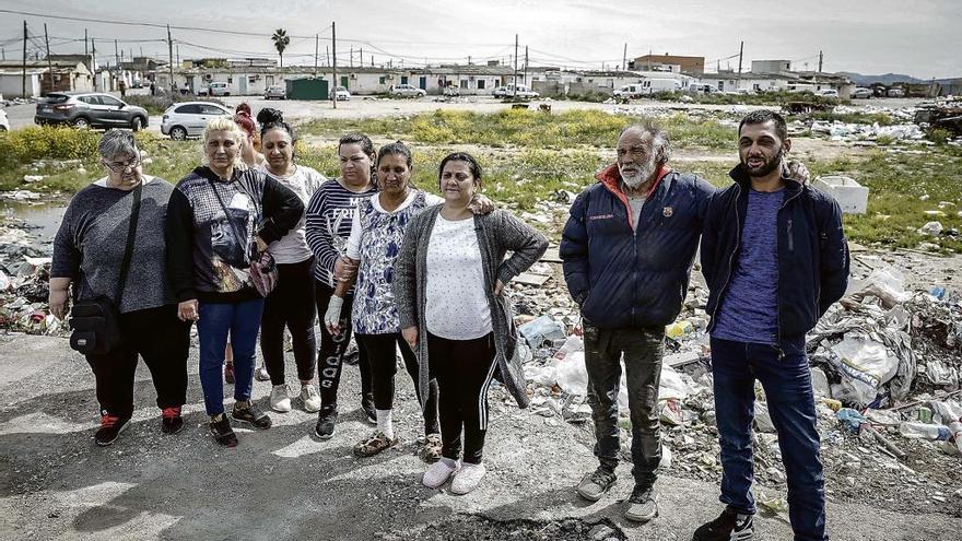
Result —
[{"label": "black trousers of the woman with glasses at far left", "polygon": [[190,324],[177,318],[177,305],[128,311],[120,315],[124,343],[103,355],[86,355],[96,377],[101,413],[133,413],[133,375],[137,356],[150,369],[157,407],[180,407],[187,401],[187,354]]}]

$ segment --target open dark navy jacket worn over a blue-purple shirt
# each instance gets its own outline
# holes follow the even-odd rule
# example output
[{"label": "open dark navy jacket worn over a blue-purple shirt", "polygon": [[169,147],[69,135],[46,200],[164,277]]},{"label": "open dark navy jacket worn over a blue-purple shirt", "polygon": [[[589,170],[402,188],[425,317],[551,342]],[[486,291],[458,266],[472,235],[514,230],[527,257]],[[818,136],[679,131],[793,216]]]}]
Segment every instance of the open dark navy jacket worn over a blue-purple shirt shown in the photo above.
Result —
[{"label": "open dark navy jacket worn over a blue-purple shirt", "polygon": [[[712,316],[725,302],[738,259],[741,226],[748,211],[751,180],[739,165],[735,184],[708,205],[702,235],[702,273],[708,284]],[[848,285],[848,245],[842,230],[842,209],[829,195],[789,178],[778,210],[778,340],[803,336]]]}]

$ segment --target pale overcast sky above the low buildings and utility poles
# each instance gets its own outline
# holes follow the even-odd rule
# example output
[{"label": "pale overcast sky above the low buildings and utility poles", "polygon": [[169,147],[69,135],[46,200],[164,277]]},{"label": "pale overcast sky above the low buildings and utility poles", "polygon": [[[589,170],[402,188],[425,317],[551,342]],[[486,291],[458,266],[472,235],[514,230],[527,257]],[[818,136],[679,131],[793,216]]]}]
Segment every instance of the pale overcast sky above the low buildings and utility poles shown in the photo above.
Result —
[{"label": "pale overcast sky above the low buildings and utility poles", "polygon": [[[709,70],[719,59],[723,69],[737,68],[739,42],[744,40],[746,70],[753,59],[786,59],[795,69],[816,69],[823,50],[824,71],[962,77],[960,0],[0,0],[0,9],[263,34],[173,30],[181,59],[275,58],[268,35],[284,28],[301,36],[292,38],[285,64],[313,64],[316,33],[322,64],[336,21],[339,64],[349,62],[351,47],[355,64],[359,49],[365,64],[372,55],[377,64],[388,58],[404,66],[466,62],[469,56],[476,62],[509,61],[518,34],[520,58],[528,46],[531,66],[620,66],[626,43],[629,58],[652,50],[703,56]],[[97,38],[102,63],[113,56],[115,38],[134,55],[141,48],[144,55],[167,55],[165,43],[133,42],[164,39],[162,28],[0,13],[0,44],[8,60],[22,55],[24,20],[31,35],[38,36],[28,43],[30,51],[43,45],[46,22],[55,54],[82,52],[87,28]]]}]

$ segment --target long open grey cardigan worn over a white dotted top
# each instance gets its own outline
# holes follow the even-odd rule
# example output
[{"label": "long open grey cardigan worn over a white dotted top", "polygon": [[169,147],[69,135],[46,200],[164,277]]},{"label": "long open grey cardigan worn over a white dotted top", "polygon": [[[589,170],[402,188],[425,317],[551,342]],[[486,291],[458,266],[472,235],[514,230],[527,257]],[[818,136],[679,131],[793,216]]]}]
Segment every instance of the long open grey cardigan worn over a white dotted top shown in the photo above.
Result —
[{"label": "long open grey cardigan worn over a white dotted top", "polygon": [[[418,364],[421,396],[427,396],[430,364],[427,360],[427,326],[425,320],[425,287],[427,273],[427,244],[434,222],[441,212],[437,204],[424,209],[408,224],[404,242],[395,263],[394,293],[395,305],[400,316],[401,329],[418,326]],[[478,247],[483,261],[484,291],[491,307],[491,327],[494,331],[495,361],[500,379],[518,405],[528,405],[525,391],[525,373],[516,348],[518,334],[514,325],[512,304],[502,292],[494,295],[495,282],[500,279],[505,285],[538,261],[548,249],[548,239],[516,219],[505,210],[495,210],[486,215],[474,215],[474,231],[478,233]],[[505,259],[507,250],[514,251]],[[457,302],[457,299],[450,299]],[[423,405],[423,404],[422,404]]]}]

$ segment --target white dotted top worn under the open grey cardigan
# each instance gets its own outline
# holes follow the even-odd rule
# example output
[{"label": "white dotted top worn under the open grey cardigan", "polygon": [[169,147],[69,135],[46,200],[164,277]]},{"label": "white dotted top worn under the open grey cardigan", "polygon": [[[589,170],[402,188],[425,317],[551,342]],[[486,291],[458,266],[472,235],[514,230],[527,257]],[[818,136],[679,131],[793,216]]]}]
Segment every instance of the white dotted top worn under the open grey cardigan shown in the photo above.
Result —
[{"label": "white dotted top worn under the open grey cardigan", "polygon": [[473,340],[491,332],[474,220],[451,222],[438,214],[427,244],[426,266],[427,332],[448,340]]}]

